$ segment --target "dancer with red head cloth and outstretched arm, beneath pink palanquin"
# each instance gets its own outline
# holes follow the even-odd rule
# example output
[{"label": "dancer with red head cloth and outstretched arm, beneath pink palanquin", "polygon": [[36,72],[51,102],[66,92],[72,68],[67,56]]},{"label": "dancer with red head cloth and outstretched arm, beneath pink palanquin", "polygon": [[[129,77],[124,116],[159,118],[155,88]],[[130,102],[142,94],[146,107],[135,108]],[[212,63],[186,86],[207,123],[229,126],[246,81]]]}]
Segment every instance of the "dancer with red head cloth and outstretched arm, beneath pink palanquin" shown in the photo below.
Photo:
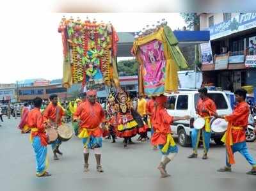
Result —
[{"label": "dancer with red head cloth and outstretched arm, beneath pink palanquin", "polygon": [[151,143],[159,147],[162,158],[158,166],[161,178],[166,178],[170,174],[166,171],[166,165],[173,160],[178,153],[178,147],[173,140],[170,125],[174,121],[189,119],[189,116],[173,117],[166,111],[167,97],[164,95],[157,96],[154,111],[152,113],[152,125],[154,126],[154,134]]}]

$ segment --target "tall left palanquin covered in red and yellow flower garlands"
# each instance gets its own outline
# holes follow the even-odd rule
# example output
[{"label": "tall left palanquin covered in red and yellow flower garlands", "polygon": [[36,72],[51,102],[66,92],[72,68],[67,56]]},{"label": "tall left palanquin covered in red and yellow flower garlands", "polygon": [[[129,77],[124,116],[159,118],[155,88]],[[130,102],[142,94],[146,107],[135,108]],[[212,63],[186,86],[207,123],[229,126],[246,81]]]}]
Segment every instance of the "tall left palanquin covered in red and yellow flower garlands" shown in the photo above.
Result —
[{"label": "tall left palanquin covered in red and yellow flower garlands", "polygon": [[118,36],[111,23],[63,19],[58,27],[63,43],[63,87],[89,82],[119,86],[116,68]]}]

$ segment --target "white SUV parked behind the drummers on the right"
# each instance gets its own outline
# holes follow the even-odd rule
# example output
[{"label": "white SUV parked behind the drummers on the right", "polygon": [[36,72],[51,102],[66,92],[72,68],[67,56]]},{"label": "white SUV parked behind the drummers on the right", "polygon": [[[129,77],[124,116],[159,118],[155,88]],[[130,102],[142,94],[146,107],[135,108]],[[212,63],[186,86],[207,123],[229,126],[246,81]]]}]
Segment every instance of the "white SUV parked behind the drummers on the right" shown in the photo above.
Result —
[{"label": "white SUV parked behind the drummers on the right", "polygon": [[[232,112],[230,103],[225,93],[221,91],[208,91],[211,98],[217,107],[217,112],[220,115],[227,115]],[[168,113],[172,116],[191,116],[190,120],[175,121],[172,125],[172,133],[178,135],[178,141],[181,146],[189,146],[191,144],[191,130],[193,122],[198,115],[196,114],[196,104],[199,99],[199,93],[196,90],[180,91],[179,93],[166,94],[168,96]],[[221,137],[223,134],[211,132],[211,139],[216,144],[223,144]]]}]

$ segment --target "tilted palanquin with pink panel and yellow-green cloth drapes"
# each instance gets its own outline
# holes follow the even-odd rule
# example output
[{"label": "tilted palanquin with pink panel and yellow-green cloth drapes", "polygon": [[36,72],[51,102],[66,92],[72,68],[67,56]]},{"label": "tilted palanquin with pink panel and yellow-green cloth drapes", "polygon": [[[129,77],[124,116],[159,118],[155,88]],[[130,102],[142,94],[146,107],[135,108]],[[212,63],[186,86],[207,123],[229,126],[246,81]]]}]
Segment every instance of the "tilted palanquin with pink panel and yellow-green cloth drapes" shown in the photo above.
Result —
[{"label": "tilted palanquin with pink panel and yellow-green cloth drapes", "polygon": [[180,52],[178,40],[170,27],[162,24],[150,29],[148,34],[135,38],[132,54],[140,63],[138,66],[139,91],[148,96],[177,91],[179,68],[188,63]]}]

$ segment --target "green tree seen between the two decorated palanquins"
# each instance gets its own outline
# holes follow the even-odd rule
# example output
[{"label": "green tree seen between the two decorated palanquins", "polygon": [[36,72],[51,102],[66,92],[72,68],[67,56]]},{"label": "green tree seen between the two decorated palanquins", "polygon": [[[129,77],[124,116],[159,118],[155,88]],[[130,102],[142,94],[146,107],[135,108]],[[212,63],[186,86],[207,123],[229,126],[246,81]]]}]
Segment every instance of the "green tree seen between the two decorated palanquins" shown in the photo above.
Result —
[{"label": "green tree seen between the two decorated palanquins", "polygon": [[136,59],[118,61],[119,76],[138,75],[138,62]]}]

